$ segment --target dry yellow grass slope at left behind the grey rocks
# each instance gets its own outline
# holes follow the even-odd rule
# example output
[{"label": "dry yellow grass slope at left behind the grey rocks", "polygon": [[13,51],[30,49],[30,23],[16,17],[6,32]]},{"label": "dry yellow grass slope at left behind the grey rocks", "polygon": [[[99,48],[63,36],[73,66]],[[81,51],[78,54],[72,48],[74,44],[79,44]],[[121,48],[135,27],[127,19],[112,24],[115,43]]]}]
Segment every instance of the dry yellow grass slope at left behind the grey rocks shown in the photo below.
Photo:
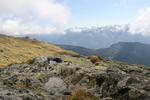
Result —
[{"label": "dry yellow grass slope at left behind the grey rocks", "polygon": [[23,63],[39,56],[63,54],[78,55],[50,43],[0,34],[0,67],[14,63]]}]

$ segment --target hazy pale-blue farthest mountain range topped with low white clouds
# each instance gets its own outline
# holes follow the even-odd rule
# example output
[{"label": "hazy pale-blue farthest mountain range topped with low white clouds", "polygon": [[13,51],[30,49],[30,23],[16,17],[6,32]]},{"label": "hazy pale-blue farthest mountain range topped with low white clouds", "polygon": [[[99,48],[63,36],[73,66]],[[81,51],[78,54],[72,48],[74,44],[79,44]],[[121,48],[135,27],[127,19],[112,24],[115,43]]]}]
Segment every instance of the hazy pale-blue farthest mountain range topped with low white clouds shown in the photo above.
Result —
[{"label": "hazy pale-blue farthest mountain range topped with low white clouds", "polygon": [[150,44],[150,36],[131,34],[128,25],[69,28],[65,30],[65,34],[32,35],[31,37],[54,44],[77,45],[91,49],[108,48],[118,42]]}]

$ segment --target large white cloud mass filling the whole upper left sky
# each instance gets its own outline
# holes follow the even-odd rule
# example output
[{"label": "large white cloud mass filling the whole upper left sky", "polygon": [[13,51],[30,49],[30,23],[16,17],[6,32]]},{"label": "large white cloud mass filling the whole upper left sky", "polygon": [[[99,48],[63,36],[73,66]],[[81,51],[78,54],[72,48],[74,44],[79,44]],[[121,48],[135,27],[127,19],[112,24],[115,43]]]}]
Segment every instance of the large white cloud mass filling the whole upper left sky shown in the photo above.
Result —
[{"label": "large white cloud mass filling the whole upper left sky", "polygon": [[55,0],[0,0],[1,33],[62,33],[67,19],[67,8]]}]

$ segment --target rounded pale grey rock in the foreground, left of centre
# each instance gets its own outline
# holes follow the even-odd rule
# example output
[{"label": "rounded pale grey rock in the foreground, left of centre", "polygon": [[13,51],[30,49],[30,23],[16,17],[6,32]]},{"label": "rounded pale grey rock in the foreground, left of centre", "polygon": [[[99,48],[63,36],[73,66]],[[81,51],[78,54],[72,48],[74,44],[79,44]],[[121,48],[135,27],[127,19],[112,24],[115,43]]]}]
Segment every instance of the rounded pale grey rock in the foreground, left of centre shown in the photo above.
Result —
[{"label": "rounded pale grey rock in the foreground, left of centre", "polygon": [[63,93],[67,89],[67,86],[60,78],[49,78],[48,82],[45,84],[45,89],[50,94],[58,94]]}]

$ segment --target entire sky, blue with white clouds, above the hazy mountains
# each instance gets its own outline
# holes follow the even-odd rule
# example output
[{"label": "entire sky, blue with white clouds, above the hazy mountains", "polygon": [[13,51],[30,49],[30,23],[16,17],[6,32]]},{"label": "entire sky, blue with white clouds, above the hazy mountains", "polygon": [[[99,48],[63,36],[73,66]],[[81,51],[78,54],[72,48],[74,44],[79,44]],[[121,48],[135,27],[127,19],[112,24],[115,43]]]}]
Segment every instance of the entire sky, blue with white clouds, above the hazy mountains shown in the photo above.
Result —
[{"label": "entire sky, blue with white clouds, above the hazy mountains", "polygon": [[130,25],[150,35],[150,0],[0,0],[0,33],[61,34],[69,27]]}]

